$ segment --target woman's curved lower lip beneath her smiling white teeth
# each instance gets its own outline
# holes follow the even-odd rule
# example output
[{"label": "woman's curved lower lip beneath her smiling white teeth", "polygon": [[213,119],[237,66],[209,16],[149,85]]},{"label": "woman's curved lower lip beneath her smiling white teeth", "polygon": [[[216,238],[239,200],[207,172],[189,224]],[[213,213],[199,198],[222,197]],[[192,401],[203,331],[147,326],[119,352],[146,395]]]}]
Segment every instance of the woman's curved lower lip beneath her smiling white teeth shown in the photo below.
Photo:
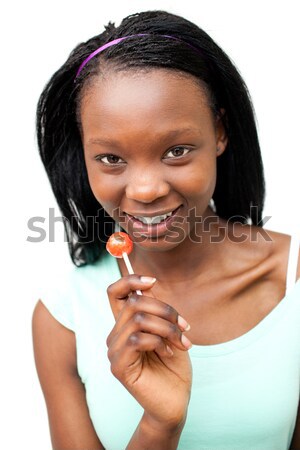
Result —
[{"label": "woman's curved lower lip beneath her smiling white teeth", "polygon": [[178,212],[180,210],[180,206],[176,208],[171,216],[167,217],[165,220],[159,223],[155,223],[152,225],[147,225],[143,222],[141,222],[139,219],[136,219],[135,217],[125,214],[126,216],[126,222],[128,223],[128,228],[131,232],[137,232],[139,235],[143,236],[161,236],[166,234],[171,229],[171,225],[173,222],[178,221],[178,218],[180,217]]}]

